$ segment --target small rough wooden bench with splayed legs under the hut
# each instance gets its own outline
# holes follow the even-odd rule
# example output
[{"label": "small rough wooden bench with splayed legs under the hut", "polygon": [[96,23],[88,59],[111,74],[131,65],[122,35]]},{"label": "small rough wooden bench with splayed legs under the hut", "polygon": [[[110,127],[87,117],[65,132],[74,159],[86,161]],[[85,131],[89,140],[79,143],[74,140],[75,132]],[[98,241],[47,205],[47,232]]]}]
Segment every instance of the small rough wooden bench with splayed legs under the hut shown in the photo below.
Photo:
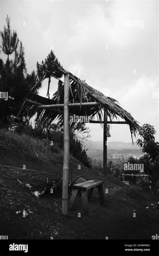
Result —
[{"label": "small rough wooden bench with splayed legs under the hut", "polygon": [[88,200],[91,197],[94,187],[98,187],[99,202],[101,205],[104,205],[103,181],[91,180],[78,183],[72,186],[72,191],[68,200],[68,208],[72,209],[78,190],[80,190],[84,214],[89,216]]}]

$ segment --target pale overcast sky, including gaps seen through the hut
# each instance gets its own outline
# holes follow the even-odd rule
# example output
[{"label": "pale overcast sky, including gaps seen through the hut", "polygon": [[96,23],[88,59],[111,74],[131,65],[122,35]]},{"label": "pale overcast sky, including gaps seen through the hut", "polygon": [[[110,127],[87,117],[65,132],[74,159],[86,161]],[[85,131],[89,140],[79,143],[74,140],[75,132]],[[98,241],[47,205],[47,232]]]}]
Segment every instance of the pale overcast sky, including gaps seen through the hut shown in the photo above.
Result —
[{"label": "pale overcast sky, including gaps seen through the hut", "polygon": [[[53,49],[65,69],[118,100],[141,124],[154,125],[159,141],[158,1],[1,0],[1,30],[7,14],[29,73]],[[46,97],[47,83],[39,95]],[[50,92],[56,90],[52,80]],[[91,140],[103,140],[99,124],[89,127]],[[131,141],[127,125],[111,125],[110,134],[108,141]]]}]

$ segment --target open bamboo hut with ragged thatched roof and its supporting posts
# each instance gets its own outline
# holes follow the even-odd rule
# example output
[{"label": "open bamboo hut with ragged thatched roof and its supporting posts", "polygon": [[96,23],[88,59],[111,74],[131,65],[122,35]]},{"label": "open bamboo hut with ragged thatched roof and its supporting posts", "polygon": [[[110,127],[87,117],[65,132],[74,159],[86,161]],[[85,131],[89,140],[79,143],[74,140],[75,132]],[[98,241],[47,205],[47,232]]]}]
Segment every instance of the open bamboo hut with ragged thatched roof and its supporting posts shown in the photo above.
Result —
[{"label": "open bamboo hut with ragged thatched roof and its supporting posts", "polygon": [[[55,119],[64,124],[64,163],[63,163],[63,191],[62,191],[62,213],[67,214],[68,200],[68,168],[69,168],[69,115],[89,116],[90,123],[99,123],[103,129],[103,181],[104,191],[107,187],[107,136],[106,126],[111,124],[127,124],[130,129],[131,138],[137,133],[142,134],[139,123],[122,107],[118,101],[89,86],[85,81],[65,70],[63,67],[50,62],[53,69],[44,69],[44,76],[39,79],[37,84],[31,89],[24,100],[18,117],[31,119],[37,114],[36,120],[41,117],[41,124],[49,126]],[[55,76],[59,72],[64,75],[64,82]],[[51,99],[39,96],[33,91],[45,78],[55,77],[58,79],[58,89]],[[103,115],[104,113],[104,115]],[[94,118],[97,117],[98,121]],[[110,121],[108,121],[108,118]],[[113,119],[124,121],[112,121]],[[106,197],[106,195],[105,195]]]}]

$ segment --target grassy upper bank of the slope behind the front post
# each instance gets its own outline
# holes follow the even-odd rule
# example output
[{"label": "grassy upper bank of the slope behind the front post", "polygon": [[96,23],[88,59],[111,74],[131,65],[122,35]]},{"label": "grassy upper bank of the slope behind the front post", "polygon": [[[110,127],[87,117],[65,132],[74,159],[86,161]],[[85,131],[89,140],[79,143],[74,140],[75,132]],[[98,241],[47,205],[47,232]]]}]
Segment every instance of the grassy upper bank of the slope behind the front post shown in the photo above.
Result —
[{"label": "grassy upper bank of the slope behind the front post", "polygon": [[[34,141],[34,139],[31,139],[30,142],[32,143],[32,147],[31,144],[29,145],[27,136],[24,138],[24,136],[20,135],[15,136],[13,132],[5,133],[0,130],[0,165],[19,168],[23,168],[23,165],[25,165],[26,169],[44,171],[54,175],[57,172],[57,177],[62,178],[63,152],[51,152],[47,147],[45,149],[45,145],[43,146],[43,142],[40,141],[38,141],[39,145],[37,146],[37,140]],[[28,143],[28,146],[25,146],[24,143]],[[49,157],[46,156],[45,151],[47,150],[50,151],[49,153],[47,152]],[[39,157],[36,155],[37,153]],[[49,154],[51,154],[51,157]],[[81,169],[79,169],[79,165]],[[102,175],[98,171],[87,168],[83,163],[72,156],[70,156],[69,159],[69,180],[71,180],[71,175],[72,180],[78,175],[82,175],[86,180],[102,179]],[[123,186],[123,183],[115,178],[111,178],[108,182],[109,185],[115,185],[117,183]]]}]

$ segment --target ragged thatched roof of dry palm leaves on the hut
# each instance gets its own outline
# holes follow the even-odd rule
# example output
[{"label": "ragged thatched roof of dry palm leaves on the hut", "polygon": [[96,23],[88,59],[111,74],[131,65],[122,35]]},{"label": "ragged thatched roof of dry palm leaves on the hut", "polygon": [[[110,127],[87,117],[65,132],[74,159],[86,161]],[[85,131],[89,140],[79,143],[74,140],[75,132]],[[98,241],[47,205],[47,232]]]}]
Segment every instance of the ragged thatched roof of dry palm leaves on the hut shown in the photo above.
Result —
[{"label": "ragged thatched roof of dry palm leaves on the hut", "polygon": [[[52,63],[52,65],[56,65]],[[103,121],[102,111],[106,111],[107,115],[112,119],[122,118],[129,125],[131,137],[139,132],[142,134],[139,123],[122,107],[119,106],[118,101],[113,98],[105,96],[103,93],[97,91],[96,89],[89,86],[86,82],[81,81],[78,77],[68,72],[62,67],[57,66],[57,69],[63,73],[68,74],[70,78],[70,90],[69,90],[69,103],[82,103],[82,102],[99,102],[99,105],[96,106],[81,106],[81,107],[69,107],[69,113],[76,114],[78,116],[89,116],[90,120],[94,120],[94,116],[97,115],[97,118],[100,122]],[[45,75],[38,81],[38,83],[32,88],[31,92],[27,96],[27,99],[41,103],[42,105],[48,104],[61,104],[64,99],[64,84],[57,78],[58,81],[58,90],[53,94],[52,99],[41,97],[38,94],[33,93],[33,91],[39,86],[45,78],[53,77],[54,73],[48,72],[45,70]],[[57,113],[59,108],[56,110],[53,109],[37,109],[34,104],[30,105],[28,102],[25,102],[20,110],[22,116],[29,116],[32,118],[37,114],[36,120],[41,116],[41,123],[49,126],[52,121],[56,118],[59,118],[59,122],[63,123],[63,114]],[[55,112],[56,111],[56,112]],[[132,138],[133,139],[133,138]]]}]

